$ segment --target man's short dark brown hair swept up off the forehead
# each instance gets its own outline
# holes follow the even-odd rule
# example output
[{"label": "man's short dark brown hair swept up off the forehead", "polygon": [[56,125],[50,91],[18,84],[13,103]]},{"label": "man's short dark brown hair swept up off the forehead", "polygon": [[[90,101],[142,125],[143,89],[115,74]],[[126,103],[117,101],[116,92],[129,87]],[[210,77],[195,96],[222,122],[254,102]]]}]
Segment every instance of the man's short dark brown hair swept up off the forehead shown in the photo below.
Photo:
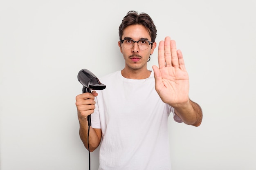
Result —
[{"label": "man's short dark brown hair swept up off the forehead", "polygon": [[121,41],[122,35],[124,33],[124,29],[130,25],[143,25],[148,30],[150,34],[151,41],[155,42],[155,38],[157,37],[157,29],[150,18],[150,16],[146,13],[139,13],[137,11],[129,11],[127,15],[122,20],[122,23],[119,26],[119,39]]}]

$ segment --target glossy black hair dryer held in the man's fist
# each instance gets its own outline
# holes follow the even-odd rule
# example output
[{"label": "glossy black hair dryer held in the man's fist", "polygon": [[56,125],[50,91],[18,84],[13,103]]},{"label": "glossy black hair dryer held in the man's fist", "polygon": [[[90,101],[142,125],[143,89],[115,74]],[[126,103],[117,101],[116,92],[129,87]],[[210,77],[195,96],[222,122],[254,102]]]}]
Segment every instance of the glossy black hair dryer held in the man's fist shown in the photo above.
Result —
[{"label": "glossy black hair dryer held in the man's fist", "polygon": [[[91,90],[103,90],[106,88],[106,85],[102,84],[99,79],[87,69],[79,71],[77,79],[83,84],[83,93],[91,93]],[[91,126],[91,115],[88,115],[87,120],[88,125]]]}]

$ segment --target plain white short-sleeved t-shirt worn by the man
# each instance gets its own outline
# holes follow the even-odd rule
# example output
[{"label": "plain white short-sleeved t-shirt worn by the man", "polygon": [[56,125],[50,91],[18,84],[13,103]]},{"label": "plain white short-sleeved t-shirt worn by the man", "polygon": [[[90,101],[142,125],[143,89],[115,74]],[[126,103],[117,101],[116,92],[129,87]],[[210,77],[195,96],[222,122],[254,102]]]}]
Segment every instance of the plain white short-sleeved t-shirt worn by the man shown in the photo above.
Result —
[{"label": "plain white short-sleeved t-shirt worn by the man", "polygon": [[117,71],[100,78],[91,115],[101,128],[99,170],[171,170],[168,115],[181,119],[155,91],[153,71],[146,79],[127,79]]}]

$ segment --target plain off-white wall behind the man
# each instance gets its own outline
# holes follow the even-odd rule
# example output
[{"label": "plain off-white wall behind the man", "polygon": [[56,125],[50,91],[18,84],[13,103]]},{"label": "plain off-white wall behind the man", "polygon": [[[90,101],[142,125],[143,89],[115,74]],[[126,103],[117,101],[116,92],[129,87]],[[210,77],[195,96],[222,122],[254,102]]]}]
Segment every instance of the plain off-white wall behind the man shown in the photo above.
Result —
[{"label": "plain off-white wall behind the man", "polygon": [[255,170],[255,9],[255,0],[1,0],[0,170],[88,170],[77,74],[124,67],[118,27],[130,10],[152,17],[157,46],[176,40],[203,110],[199,127],[169,117],[172,169]]}]

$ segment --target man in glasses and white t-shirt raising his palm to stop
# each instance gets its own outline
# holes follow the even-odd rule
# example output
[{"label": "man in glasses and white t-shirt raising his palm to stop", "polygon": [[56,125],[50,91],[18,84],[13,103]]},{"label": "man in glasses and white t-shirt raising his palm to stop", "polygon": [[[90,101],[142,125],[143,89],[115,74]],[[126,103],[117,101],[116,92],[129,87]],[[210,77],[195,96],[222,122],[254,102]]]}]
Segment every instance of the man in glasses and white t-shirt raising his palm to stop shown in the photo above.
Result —
[{"label": "man in glasses and white t-shirt raising his palm to stop", "polygon": [[76,96],[84,146],[89,141],[92,152],[101,143],[99,170],[171,170],[169,114],[177,122],[201,124],[202,110],[189,99],[189,76],[174,40],[159,42],[159,68],[147,69],[156,35],[148,14],[129,11],[119,26],[124,69],[100,78],[106,89]]}]

